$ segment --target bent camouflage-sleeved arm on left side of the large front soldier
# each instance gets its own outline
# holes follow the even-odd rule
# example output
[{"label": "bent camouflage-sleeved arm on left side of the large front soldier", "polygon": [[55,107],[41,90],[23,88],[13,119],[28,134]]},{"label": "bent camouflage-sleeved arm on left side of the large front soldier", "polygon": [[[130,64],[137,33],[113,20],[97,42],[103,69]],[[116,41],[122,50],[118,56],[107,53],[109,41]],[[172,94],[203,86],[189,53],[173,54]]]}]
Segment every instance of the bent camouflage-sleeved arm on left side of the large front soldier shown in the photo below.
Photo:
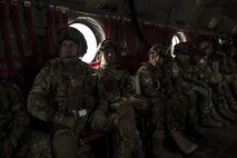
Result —
[{"label": "bent camouflage-sleeved arm on left side of the large front soldier", "polygon": [[76,119],[70,116],[66,117],[52,108],[52,77],[50,68],[45,67],[37,76],[32,89],[28,97],[28,111],[36,118],[50,124],[58,124],[73,128]]}]

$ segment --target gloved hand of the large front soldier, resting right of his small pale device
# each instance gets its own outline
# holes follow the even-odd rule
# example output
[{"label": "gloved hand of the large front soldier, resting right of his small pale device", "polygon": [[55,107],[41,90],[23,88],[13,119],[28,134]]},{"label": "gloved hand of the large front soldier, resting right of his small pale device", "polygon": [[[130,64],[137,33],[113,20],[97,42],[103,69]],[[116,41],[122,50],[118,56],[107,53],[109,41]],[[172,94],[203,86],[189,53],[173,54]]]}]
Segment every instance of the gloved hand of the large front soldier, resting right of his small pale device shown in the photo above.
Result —
[{"label": "gloved hand of the large front soldier, resting right of his small pale device", "polygon": [[102,129],[106,125],[106,116],[101,111],[95,111],[90,118],[90,128],[92,130]]}]

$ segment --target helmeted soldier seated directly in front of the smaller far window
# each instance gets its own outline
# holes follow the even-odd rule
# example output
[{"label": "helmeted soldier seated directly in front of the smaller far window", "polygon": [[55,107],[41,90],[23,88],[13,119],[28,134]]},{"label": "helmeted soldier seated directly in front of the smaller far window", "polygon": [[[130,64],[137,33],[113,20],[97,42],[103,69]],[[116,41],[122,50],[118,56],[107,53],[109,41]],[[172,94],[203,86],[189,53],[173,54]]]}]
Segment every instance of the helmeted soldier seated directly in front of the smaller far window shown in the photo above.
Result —
[{"label": "helmeted soldier seated directly in front of the smaller far window", "polygon": [[174,87],[189,98],[189,109],[191,109],[189,115],[191,115],[191,111],[192,115],[198,115],[199,122],[203,126],[221,127],[221,122],[217,122],[210,117],[211,105],[209,103],[208,89],[198,85],[191,77],[192,67],[189,62],[191,43],[180,42],[176,45],[174,53],[176,57],[168,66],[169,73],[172,77]]}]

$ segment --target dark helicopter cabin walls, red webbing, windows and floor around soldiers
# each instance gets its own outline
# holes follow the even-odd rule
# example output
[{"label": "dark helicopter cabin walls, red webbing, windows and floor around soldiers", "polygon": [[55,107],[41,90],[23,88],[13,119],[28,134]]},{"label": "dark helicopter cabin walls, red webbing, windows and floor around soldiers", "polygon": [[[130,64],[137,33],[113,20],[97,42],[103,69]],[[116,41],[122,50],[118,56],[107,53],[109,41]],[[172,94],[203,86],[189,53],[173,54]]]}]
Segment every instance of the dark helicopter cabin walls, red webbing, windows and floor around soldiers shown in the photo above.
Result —
[{"label": "dark helicopter cabin walls, red webbing, windows and floor around soldiers", "polygon": [[[174,46],[204,40],[237,47],[237,0],[0,0],[0,73],[26,96],[39,70],[58,57],[62,27],[85,36],[82,61],[98,67],[97,46],[115,39],[118,62],[135,75],[154,43]],[[207,129],[189,158],[236,158],[237,122]]]}]

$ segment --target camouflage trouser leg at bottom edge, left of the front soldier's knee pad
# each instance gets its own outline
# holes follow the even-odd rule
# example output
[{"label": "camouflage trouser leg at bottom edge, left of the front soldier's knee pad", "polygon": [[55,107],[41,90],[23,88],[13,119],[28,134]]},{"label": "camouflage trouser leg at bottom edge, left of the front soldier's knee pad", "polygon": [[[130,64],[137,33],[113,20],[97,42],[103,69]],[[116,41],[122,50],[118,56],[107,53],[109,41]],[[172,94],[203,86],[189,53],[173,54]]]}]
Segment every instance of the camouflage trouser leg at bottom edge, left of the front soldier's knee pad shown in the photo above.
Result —
[{"label": "camouflage trouser leg at bottom edge, left of the front soldier's knee pad", "polygon": [[52,158],[50,136],[32,131],[29,141],[21,147],[18,158]]}]

